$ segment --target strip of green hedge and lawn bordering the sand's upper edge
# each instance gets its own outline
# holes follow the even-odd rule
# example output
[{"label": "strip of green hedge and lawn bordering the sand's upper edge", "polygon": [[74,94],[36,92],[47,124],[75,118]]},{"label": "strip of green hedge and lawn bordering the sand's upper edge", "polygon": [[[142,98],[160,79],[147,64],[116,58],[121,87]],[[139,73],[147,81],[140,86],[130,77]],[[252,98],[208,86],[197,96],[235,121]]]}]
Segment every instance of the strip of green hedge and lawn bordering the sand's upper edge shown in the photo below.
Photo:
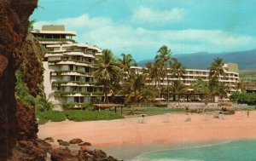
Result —
[{"label": "strip of green hedge and lawn bordering the sand's upper edge", "polygon": [[121,109],[117,108],[117,112],[114,112],[114,108],[98,111],[89,110],[65,110],[63,112],[48,111],[37,112],[39,118],[38,124],[45,124],[48,121],[61,122],[65,119],[69,119],[76,122],[82,121],[94,121],[94,120],[113,120],[125,117],[137,116],[140,114],[146,115],[159,115],[165,113],[179,113],[185,112],[183,108],[166,108],[166,107],[124,107],[121,115]]}]

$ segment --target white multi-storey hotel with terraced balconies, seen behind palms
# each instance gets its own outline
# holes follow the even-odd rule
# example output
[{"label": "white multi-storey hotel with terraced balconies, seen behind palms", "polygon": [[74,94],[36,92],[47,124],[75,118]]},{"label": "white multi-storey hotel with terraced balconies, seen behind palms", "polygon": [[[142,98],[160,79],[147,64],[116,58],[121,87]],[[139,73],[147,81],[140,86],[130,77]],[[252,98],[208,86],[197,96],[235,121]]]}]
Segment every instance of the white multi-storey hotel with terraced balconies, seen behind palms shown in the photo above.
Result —
[{"label": "white multi-storey hotel with terraced balconies, seen behind palms", "polygon": [[[92,73],[96,70],[94,61],[96,56],[102,55],[102,50],[87,43],[75,43],[75,32],[65,30],[64,26],[43,26],[42,30],[33,30],[39,43],[44,46],[44,92],[55,106],[84,107],[84,103],[97,100],[102,101],[102,86],[96,84]],[[143,67],[132,66],[142,73]],[[239,81],[238,66],[233,63],[224,64],[226,77],[220,77],[230,87],[229,95],[236,91]],[[187,86],[195,83],[200,77],[207,81],[209,70],[186,69],[185,77],[181,80]],[[168,73],[172,82],[171,73]],[[154,83],[152,83],[153,85]],[[167,78],[163,82],[167,85]],[[191,92],[192,89],[189,89]],[[193,92],[193,91],[192,91]]]}]

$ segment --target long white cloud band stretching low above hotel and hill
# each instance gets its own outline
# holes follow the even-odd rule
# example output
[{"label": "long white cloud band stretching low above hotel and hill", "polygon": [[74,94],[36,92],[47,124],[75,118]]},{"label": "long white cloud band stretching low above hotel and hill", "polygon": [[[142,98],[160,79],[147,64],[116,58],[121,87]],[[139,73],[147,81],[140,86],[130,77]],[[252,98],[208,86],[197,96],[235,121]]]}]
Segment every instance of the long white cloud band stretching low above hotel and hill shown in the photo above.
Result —
[{"label": "long white cloud band stretching low above hotel and hill", "polygon": [[166,44],[175,54],[194,52],[226,52],[255,49],[256,37],[237,35],[221,30],[148,30],[146,27],[127,26],[103,17],[79,17],[55,21],[40,21],[44,24],[65,25],[78,33],[79,43],[90,43],[102,49],[112,49],[115,55],[130,53],[137,60],[154,58],[160,46]]}]

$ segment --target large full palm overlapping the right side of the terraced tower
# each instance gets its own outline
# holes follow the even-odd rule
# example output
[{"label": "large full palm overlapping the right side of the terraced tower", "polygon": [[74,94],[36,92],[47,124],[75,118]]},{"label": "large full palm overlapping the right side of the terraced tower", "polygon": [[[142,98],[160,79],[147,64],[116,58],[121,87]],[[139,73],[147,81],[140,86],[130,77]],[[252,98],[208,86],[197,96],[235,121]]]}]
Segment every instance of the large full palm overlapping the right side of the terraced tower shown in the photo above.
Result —
[{"label": "large full palm overlapping the right side of the terraced tower", "polygon": [[119,83],[121,69],[113,53],[109,49],[102,51],[102,56],[96,60],[94,77],[103,85],[104,102],[108,102],[108,93],[113,83]]}]

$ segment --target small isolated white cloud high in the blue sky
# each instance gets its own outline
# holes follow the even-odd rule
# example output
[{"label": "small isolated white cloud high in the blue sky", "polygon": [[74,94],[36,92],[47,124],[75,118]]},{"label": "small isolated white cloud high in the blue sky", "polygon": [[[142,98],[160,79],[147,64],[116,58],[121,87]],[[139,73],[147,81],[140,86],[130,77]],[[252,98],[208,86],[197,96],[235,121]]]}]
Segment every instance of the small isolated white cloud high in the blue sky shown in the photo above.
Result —
[{"label": "small isolated white cloud high in the blue sky", "polygon": [[132,20],[138,23],[177,23],[183,20],[183,9],[155,10],[140,7],[133,13]]}]

